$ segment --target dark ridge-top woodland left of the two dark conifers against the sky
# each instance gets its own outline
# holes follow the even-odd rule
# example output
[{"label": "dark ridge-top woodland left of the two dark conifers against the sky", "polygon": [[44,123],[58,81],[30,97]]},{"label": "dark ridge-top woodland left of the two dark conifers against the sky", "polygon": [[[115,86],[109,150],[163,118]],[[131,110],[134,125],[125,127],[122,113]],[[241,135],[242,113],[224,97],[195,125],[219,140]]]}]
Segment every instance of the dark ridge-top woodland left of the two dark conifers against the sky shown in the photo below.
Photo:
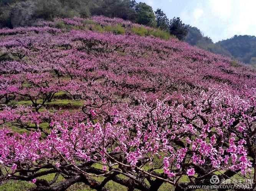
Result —
[{"label": "dark ridge-top woodland left of the two dark conifers against the sky", "polygon": [[[17,5],[21,2],[26,4],[28,1],[0,0],[0,27],[13,27],[11,23],[13,7],[19,7]],[[155,27],[155,15],[152,7],[145,3],[138,4],[135,0],[33,0],[30,1],[31,3],[35,3],[36,11],[31,15],[31,22],[27,23],[28,26],[36,19],[52,20],[56,17],[79,16],[86,18],[91,15],[104,15]],[[22,10],[24,13],[34,11],[29,10],[28,6],[23,5],[23,7],[27,7],[26,11]],[[15,14],[18,12],[16,11]],[[22,18],[20,19],[22,20]],[[15,27],[17,25],[18,21],[15,23]]]}]

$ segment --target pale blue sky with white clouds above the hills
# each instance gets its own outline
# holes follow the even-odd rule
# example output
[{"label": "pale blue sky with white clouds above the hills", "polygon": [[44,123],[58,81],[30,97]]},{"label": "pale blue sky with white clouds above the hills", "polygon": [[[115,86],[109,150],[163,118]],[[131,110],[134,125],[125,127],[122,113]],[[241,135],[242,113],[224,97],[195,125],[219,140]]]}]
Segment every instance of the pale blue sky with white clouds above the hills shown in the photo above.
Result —
[{"label": "pale blue sky with white clouds above the hills", "polygon": [[168,18],[180,17],[213,42],[235,34],[256,36],[256,0],[136,0],[160,8]]}]

